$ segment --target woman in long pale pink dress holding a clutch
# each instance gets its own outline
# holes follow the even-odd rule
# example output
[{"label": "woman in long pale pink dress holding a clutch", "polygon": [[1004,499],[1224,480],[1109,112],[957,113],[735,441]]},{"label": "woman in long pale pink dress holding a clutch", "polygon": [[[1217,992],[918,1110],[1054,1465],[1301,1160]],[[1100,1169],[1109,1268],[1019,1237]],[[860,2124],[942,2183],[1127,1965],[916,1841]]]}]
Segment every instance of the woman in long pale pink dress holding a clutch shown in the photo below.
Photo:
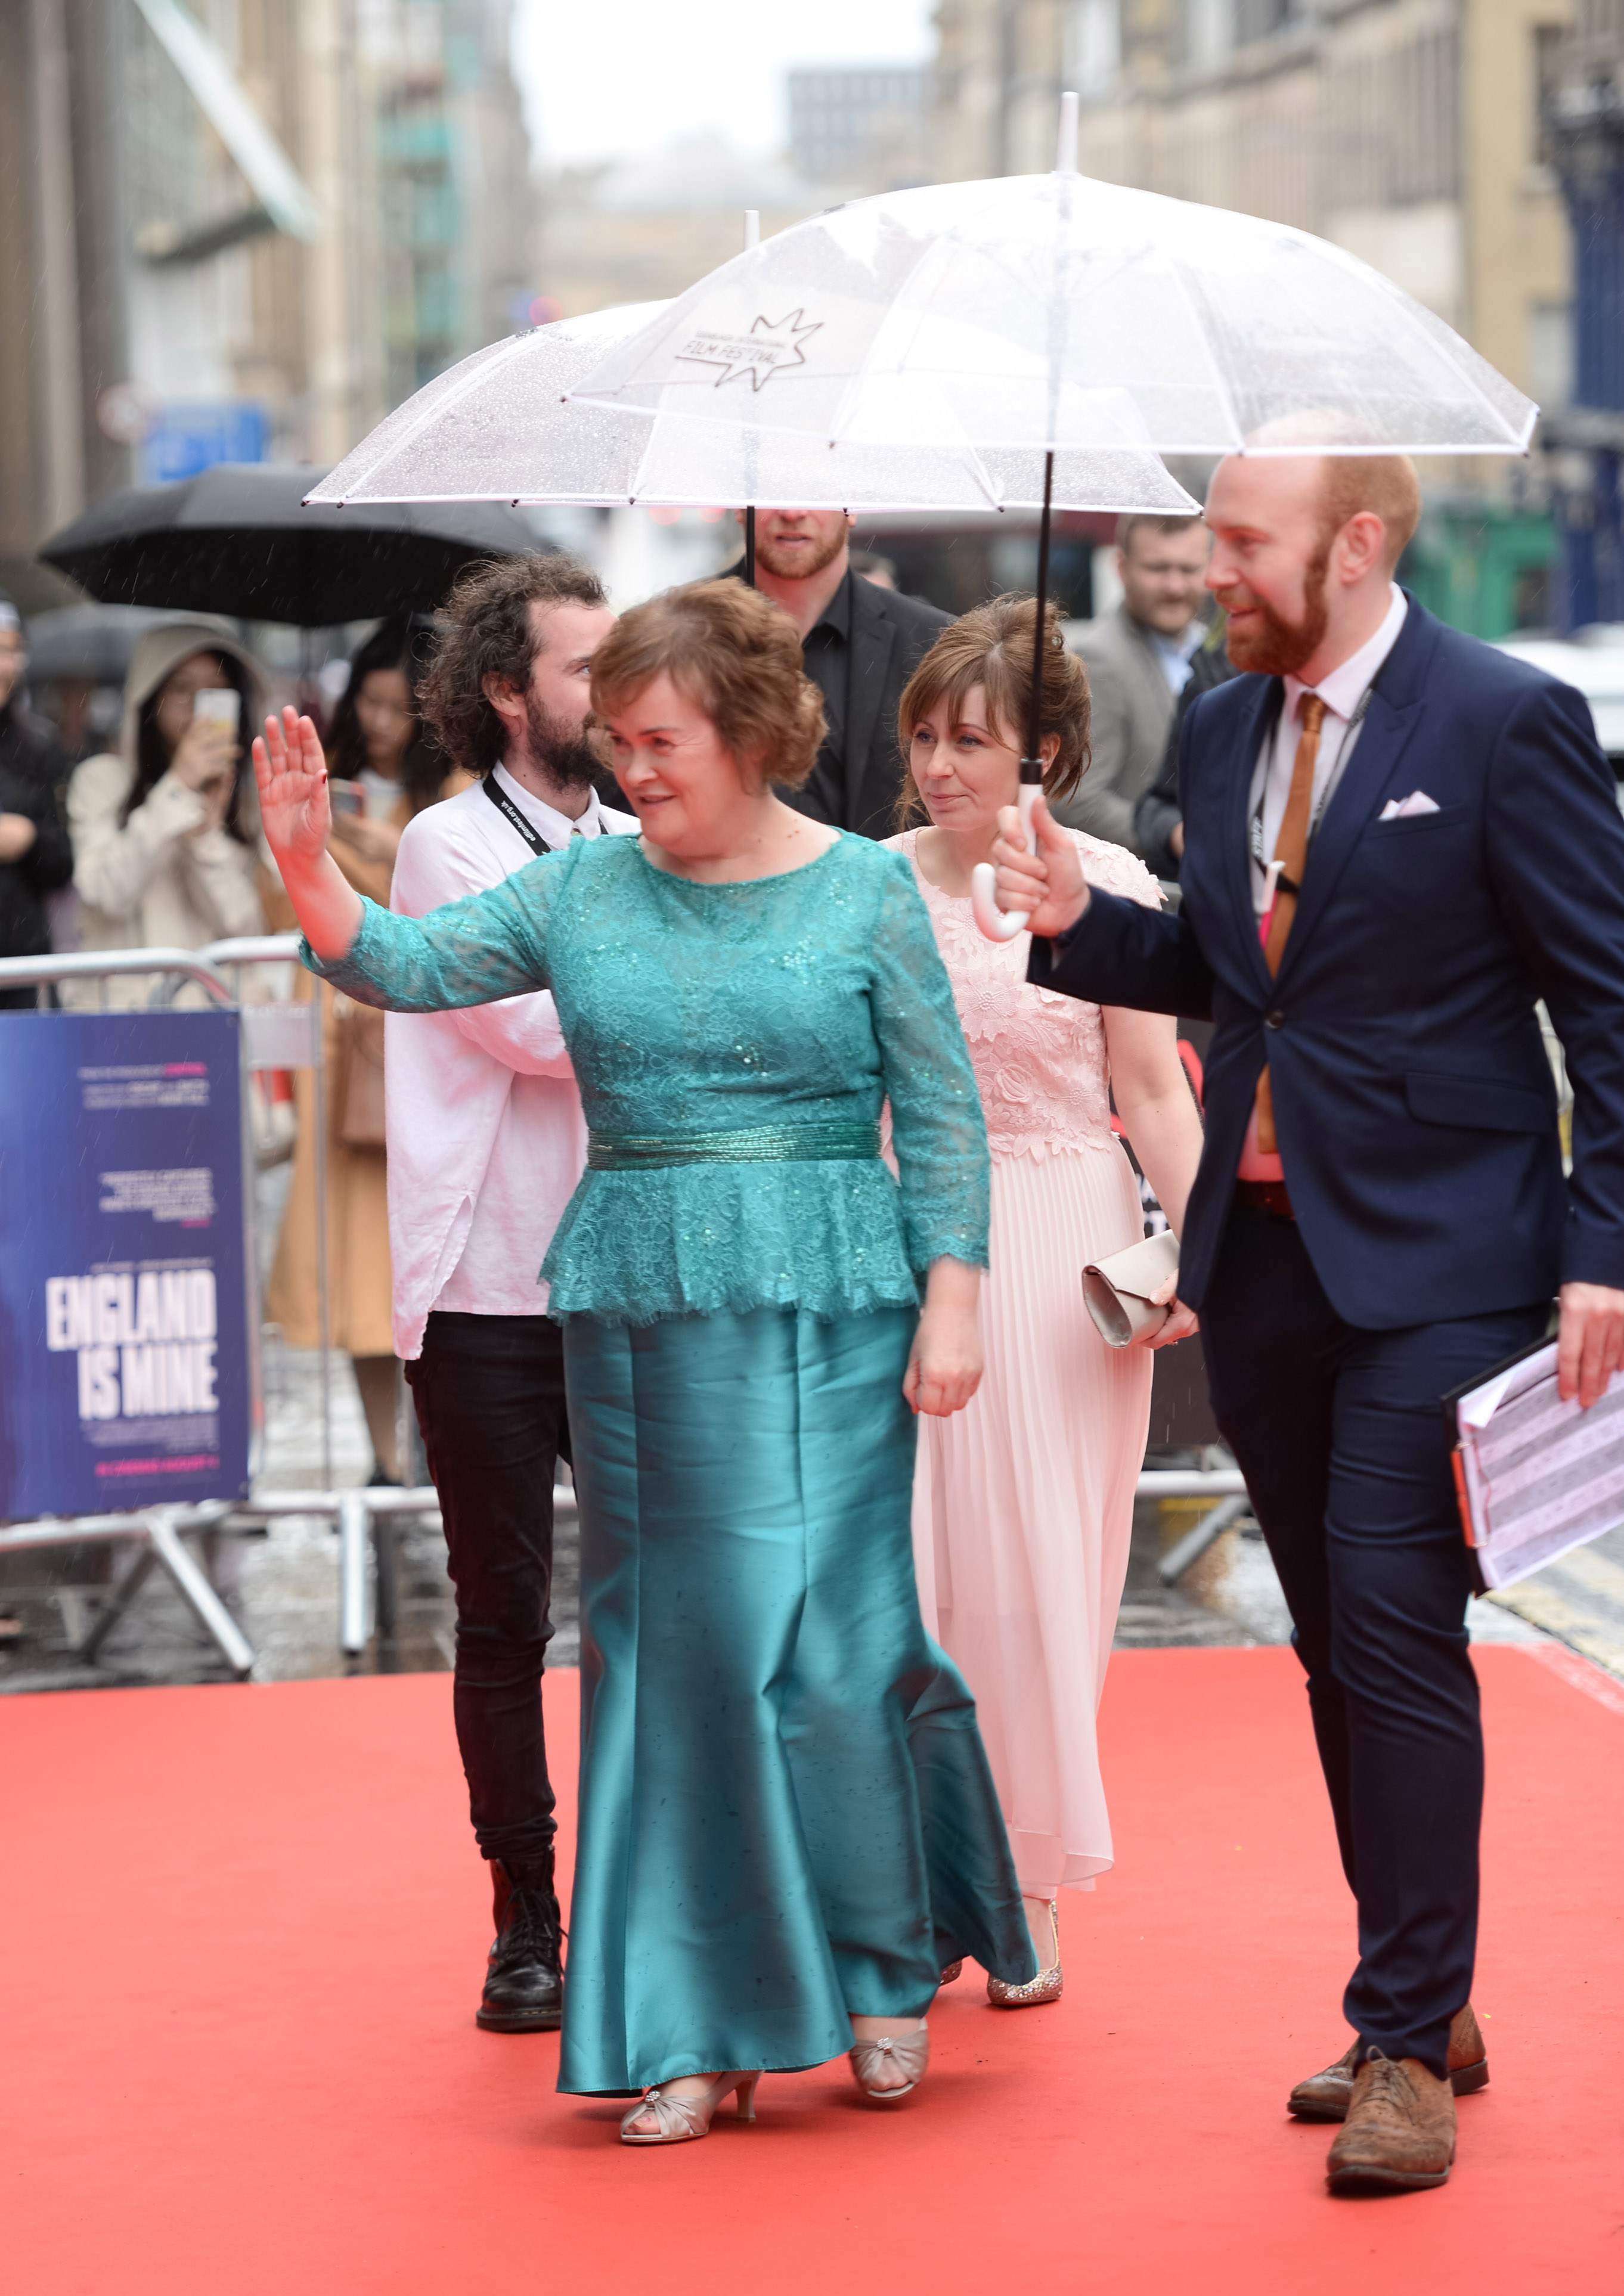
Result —
[{"label": "woman in long pale pink dress holding a clutch", "polygon": [[[1029,934],[985,941],[969,914],[969,872],[992,859],[1020,781],[1034,615],[1031,599],[979,606],[914,670],[903,817],[923,806],[930,827],[891,840],[935,925],[992,1148],[985,1375],[967,1410],[923,1424],[914,1566],[926,1626],[976,1694],[1038,1952],[1029,1984],[988,1979],[999,2007],[1059,1998],[1057,1892],[1091,1890],[1112,1864],[1096,1708],[1151,1417],[1149,1350],[1107,1348],[1082,1302],[1084,1265],[1144,1233],[1112,1093],[1174,1231],[1201,1155],[1174,1022],[1031,987]],[[1086,771],[1089,680],[1054,608],[1045,641],[1043,785],[1064,799]],[[1070,833],[1091,884],[1160,902],[1130,852]],[[1190,1329],[1176,1309],[1158,1345]]]}]

